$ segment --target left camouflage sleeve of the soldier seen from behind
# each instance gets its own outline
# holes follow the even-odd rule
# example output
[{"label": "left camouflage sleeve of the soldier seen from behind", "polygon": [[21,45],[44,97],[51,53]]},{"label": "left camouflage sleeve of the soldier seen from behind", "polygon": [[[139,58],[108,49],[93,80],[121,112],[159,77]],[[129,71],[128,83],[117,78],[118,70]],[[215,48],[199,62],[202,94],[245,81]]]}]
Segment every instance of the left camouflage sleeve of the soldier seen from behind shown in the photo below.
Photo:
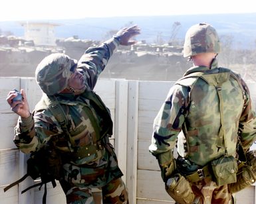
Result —
[{"label": "left camouflage sleeve of the soldier seen from behind", "polygon": [[153,125],[150,152],[157,156],[176,146],[177,136],[182,130],[188,105],[188,88],[175,85],[162,105]]}]

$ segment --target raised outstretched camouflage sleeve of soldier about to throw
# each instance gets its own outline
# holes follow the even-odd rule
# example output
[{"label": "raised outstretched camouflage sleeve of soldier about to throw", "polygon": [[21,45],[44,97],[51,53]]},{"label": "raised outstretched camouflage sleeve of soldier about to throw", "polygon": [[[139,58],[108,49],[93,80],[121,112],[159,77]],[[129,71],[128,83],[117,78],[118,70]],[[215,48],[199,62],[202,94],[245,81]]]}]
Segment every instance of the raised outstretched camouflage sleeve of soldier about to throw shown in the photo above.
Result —
[{"label": "raised outstretched camouflage sleeve of soldier about to throw", "polygon": [[77,68],[85,71],[86,83],[90,89],[94,88],[98,76],[104,70],[110,56],[119,44],[120,42],[116,38],[111,38],[98,46],[88,48],[80,58]]}]

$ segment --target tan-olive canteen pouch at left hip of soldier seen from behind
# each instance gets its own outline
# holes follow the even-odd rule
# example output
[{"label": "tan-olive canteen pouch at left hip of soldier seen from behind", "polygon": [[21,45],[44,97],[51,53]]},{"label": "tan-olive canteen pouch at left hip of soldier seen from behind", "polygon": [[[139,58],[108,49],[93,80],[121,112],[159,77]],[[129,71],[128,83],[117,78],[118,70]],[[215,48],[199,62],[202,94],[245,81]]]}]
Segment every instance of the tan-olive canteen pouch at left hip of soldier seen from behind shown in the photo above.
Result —
[{"label": "tan-olive canteen pouch at left hip of soldier seen from behind", "polygon": [[195,195],[193,194],[190,182],[182,175],[176,174],[170,178],[171,182],[166,184],[166,192],[178,203],[192,203]]}]

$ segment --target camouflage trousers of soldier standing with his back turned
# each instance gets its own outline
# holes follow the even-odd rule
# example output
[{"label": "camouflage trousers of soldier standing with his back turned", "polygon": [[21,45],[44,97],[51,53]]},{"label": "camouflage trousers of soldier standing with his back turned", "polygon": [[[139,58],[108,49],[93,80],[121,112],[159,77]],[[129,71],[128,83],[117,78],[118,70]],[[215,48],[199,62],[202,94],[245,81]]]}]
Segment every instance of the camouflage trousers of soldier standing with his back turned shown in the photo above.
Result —
[{"label": "camouflage trousers of soldier standing with his back turned", "polygon": [[235,204],[235,199],[229,193],[227,185],[217,187],[211,178],[205,178],[191,183],[195,194],[193,203],[197,204]]}]

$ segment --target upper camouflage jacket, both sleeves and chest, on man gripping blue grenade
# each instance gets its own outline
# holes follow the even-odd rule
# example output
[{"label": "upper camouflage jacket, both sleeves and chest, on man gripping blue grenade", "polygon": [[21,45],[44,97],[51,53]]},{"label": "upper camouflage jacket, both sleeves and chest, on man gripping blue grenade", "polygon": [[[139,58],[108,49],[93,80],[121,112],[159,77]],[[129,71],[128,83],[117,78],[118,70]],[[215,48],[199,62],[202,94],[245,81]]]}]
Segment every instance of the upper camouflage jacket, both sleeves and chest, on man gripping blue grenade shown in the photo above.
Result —
[{"label": "upper camouflage jacket, both sleeves and chest, on man gripping blue grenade", "polygon": [[[99,46],[88,48],[78,61],[77,70],[84,76],[86,90],[94,89],[99,74],[104,70],[110,56],[119,45],[118,40],[110,39]],[[90,107],[94,117],[98,121],[98,125],[104,123],[104,119],[96,115],[96,110],[90,105],[90,101],[81,95],[73,95],[72,93],[59,93],[55,95],[63,107],[64,113],[69,121],[68,131],[72,138],[72,144],[78,148],[86,146],[92,142],[92,138],[96,130],[89,117],[84,112],[83,107]],[[63,129],[59,125],[57,119],[53,116],[47,106],[39,101],[33,115],[27,119],[19,117],[17,126],[15,127],[14,142],[16,146],[24,153],[36,151],[53,137],[63,135]],[[59,142],[58,148],[63,151],[70,151],[67,141]],[[78,161],[82,164],[84,161]]]}]

